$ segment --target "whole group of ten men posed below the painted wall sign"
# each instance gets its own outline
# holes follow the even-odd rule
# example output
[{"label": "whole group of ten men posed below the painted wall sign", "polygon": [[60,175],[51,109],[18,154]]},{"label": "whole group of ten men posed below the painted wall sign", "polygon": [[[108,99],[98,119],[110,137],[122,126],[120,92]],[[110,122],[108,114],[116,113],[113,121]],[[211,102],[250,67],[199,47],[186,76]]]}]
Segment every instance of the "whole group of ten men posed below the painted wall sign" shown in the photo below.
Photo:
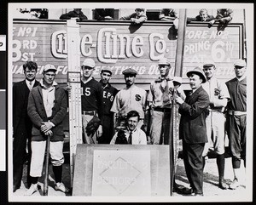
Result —
[{"label": "whole group of ten men posed below the painted wall sign", "polygon": [[[84,144],[169,145],[172,106],[178,106],[179,139],[190,187],[183,195],[203,196],[203,170],[208,151],[216,153],[218,187],[236,189],[241,182],[241,160],[246,167],[247,64],[234,62],[236,77],[224,83],[216,78],[218,67],[212,61],[186,73],[189,91],[183,90],[182,77],[171,75],[171,63],[158,61],[160,77],[146,91],[136,84],[139,75],[132,67],[123,71],[125,88],[114,88],[107,66],[93,77],[96,63],[87,58],[81,65],[81,110]],[[36,79],[38,65],[23,65],[25,79],[13,85],[13,191],[20,189],[27,160],[25,195],[38,191],[46,141],[55,177],[55,191],[69,192],[62,182],[64,163],[64,124],[68,92],[72,86],[55,82],[57,70],[45,65],[43,77]],[[234,180],[224,179],[225,136],[229,139]],[[174,188],[179,189],[174,181]]]}]

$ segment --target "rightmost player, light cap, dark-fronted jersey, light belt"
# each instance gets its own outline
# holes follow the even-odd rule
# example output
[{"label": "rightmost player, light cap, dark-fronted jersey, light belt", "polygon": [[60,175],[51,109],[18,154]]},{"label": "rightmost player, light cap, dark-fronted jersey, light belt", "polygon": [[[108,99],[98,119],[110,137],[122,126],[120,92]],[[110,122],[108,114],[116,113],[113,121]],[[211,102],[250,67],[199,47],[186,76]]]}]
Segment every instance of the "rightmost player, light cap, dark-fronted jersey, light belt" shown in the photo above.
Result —
[{"label": "rightmost player, light cap, dark-fronted jersey, light belt", "polygon": [[246,128],[247,128],[247,64],[244,60],[234,63],[236,77],[226,83],[230,91],[227,105],[227,133],[230,140],[234,180],[230,189],[236,189],[241,181],[241,159],[246,168]]}]

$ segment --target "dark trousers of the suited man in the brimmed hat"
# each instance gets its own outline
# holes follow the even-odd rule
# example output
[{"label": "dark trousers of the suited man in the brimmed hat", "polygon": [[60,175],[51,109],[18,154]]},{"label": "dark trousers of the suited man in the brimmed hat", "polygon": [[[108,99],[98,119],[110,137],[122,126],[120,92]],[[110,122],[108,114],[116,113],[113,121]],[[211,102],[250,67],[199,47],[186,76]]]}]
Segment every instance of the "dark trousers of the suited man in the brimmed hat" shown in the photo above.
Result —
[{"label": "dark trousers of the suited man in the brimmed hat", "polygon": [[188,144],[183,140],[183,161],[189,183],[197,194],[203,193],[203,157],[205,143]]}]

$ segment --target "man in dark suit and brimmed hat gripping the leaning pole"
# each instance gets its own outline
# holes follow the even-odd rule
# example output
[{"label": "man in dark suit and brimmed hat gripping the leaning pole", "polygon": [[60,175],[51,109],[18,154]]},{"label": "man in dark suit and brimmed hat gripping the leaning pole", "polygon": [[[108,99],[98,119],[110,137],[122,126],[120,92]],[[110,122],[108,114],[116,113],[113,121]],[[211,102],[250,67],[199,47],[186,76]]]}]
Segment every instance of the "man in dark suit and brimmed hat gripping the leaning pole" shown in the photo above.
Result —
[{"label": "man in dark suit and brimmed hat gripping the leaning pole", "polygon": [[183,100],[176,97],[181,114],[179,134],[183,140],[183,161],[191,189],[184,194],[203,196],[203,165],[202,152],[207,142],[207,107],[210,105],[207,91],[201,87],[207,79],[199,67],[188,71],[192,93]]}]

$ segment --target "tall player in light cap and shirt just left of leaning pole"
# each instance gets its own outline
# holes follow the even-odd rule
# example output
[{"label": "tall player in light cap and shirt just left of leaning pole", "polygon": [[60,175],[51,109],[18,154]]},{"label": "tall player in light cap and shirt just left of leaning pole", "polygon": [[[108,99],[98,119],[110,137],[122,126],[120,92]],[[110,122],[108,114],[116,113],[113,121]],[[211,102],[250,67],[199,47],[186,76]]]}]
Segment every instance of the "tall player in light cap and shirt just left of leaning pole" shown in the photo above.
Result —
[{"label": "tall player in light cap and shirt just left of leaning pole", "polygon": [[[151,111],[150,137],[153,145],[169,145],[170,119],[172,108],[172,91],[174,88],[170,74],[171,64],[166,58],[159,60],[160,77],[150,84],[148,91],[148,107]],[[180,82],[181,79],[177,78]],[[177,83],[178,83],[177,82]],[[177,89],[179,96],[185,94],[183,89]]]}]

